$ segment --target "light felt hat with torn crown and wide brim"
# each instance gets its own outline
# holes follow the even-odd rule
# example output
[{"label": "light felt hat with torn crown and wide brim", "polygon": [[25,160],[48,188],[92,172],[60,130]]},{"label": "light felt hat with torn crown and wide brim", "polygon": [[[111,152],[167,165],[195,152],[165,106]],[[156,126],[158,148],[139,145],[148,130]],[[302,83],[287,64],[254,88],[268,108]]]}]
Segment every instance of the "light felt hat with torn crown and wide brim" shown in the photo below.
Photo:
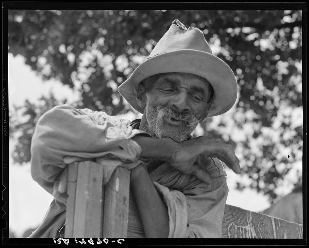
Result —
[{"label": "light felt hat with torn crown and wide brim", "polygon": [[208,117],[225,113],[236,101],[237,82],[231,68],[212,54],[200,29],[187,29],[179,20],[172,22],[147,60],[118,87],[118,91],[134,109],[144,113],[144,108],[136,101],[138,84],[149,76],[168,72],[195,74],[211,84],[214,94]]}]

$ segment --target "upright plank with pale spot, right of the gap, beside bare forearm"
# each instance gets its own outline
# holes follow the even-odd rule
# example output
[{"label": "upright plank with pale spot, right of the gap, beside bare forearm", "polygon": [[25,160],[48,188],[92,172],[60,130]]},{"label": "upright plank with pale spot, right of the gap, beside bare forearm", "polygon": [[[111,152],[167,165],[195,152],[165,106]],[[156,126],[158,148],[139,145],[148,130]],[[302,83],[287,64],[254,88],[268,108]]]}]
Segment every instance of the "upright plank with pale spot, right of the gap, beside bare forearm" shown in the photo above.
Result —
[{"label": "upright plank with pale spot, right of the gap, beside bare forearm", "polygon": [[103,237],[127,237],[130,172],[118,167],[105,185]]}]

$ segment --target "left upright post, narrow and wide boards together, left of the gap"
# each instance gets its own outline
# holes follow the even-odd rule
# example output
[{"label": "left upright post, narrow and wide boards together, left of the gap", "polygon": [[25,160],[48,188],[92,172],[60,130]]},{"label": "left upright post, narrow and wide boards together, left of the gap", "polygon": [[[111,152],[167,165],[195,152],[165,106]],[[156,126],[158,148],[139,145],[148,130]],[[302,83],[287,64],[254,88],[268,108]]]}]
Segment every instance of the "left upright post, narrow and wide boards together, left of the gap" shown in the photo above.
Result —
[{"label": "left upright post, narrow and wide boards together, left of the gap", "polygon": [[71,172],[65,236],[102,237],[103,167],[91,161],[79,162],[77,169],[76,164],[69,165]]}]

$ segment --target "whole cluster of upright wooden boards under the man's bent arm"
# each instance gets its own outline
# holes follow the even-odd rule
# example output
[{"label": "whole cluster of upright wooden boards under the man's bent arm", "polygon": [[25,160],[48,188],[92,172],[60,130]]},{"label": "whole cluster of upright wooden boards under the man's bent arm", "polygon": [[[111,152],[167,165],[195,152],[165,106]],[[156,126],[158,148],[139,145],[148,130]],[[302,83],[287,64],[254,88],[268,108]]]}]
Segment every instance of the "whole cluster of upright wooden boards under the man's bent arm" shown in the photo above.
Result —
[{"label": "whole cluster of upright wooden boards under the man's bent arm", "polygon": [[103,172],[91,161],[69,165],[65,237],[127,237],[129,170],[116,168],[105,186]]}]

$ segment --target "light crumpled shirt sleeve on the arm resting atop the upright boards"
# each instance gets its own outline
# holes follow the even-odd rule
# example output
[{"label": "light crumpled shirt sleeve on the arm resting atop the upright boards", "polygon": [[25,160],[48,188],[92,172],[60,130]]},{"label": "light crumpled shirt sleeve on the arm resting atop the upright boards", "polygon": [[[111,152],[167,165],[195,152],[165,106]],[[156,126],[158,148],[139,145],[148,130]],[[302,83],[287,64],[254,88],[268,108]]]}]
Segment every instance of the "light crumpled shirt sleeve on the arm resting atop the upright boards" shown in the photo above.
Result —
[{"label": "light crumpled shirt sleeve on the arm resting atop the upright boards", "polygon": [[129,120],[70,105],[56,106],[38,120],[31,144],[32,178],[52,194],[56,177],[74,161],[117,159],[136,164],[141,147]]}]

